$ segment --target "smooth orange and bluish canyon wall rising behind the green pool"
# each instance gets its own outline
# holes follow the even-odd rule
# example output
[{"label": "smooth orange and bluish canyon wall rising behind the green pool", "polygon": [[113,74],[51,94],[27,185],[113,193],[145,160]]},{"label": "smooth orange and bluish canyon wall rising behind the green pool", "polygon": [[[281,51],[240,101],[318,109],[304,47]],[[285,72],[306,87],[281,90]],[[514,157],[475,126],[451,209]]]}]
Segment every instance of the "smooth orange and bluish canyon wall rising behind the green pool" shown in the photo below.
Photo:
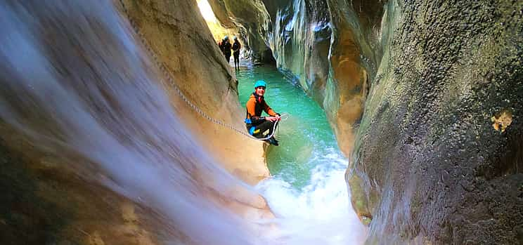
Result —
[{"label": "smooth orange and bluish canyon wall rising behind the green pool", "polygon": [[326,0],[210,0],[209,4],[221,22],[233,22],[238,32],[248,33],[245,46],[253,43],[254,60],[272,52],[278,69],[323,107],[341,149],[349,154],[369,81],[381,58],[383,4]]}]

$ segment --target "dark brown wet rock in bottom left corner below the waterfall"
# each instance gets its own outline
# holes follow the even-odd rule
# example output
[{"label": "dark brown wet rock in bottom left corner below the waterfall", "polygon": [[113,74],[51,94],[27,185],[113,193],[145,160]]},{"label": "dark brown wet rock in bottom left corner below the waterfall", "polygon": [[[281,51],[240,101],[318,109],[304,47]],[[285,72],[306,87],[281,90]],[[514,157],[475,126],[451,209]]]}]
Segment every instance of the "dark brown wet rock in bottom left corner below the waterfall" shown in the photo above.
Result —
[{"label": "dark brown wet rock in bottom left corner below the waterfall", "polygon": [[0,129],[0,244],[160,244],[149,211]]}]

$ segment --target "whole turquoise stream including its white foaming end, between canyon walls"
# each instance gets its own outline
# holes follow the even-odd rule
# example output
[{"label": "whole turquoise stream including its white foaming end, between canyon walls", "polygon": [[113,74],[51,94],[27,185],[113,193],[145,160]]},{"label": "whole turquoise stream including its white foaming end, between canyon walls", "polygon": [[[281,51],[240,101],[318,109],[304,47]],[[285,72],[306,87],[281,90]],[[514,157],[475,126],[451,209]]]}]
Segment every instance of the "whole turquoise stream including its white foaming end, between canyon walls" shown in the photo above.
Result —
[{"label": "whole turquoise stream including its white foaming end, between canyon walls", "polygon": [[253,84],[267,83],[266,102],[288,114],[269,146],[272,178],[257,185],[283,226],[289,244],[361,244],[365,229],[351,208],[344,180],[348,161],[337,147],[325,112],[278,69],[248,65],[236,74],[245,106]]}]

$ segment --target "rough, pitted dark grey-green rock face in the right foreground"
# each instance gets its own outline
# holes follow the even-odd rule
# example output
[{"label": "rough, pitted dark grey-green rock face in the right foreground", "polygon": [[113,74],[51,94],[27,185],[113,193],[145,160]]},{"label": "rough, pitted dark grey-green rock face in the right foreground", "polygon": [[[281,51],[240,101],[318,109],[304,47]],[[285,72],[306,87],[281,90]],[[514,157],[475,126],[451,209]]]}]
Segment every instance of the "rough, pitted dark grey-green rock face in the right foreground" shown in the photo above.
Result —
[{"label": "rough, pitted dark grey-green rock face in the right foreground", "polygon": [[347,171],[371,244],[523,242],[522,9],[389,2]]}]

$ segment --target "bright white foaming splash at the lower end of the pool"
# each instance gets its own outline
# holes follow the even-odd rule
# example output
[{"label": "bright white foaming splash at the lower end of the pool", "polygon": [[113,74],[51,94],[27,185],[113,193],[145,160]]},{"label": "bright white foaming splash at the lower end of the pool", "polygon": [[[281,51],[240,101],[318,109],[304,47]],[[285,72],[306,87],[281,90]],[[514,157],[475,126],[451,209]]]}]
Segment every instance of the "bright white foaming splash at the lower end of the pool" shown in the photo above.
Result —
[{"label": "bright white foaming splash at the lower end of the pool", "polygon": [[[366,228],[352,211],[344,183],[347,161],[330,149],[311,171],[310,184],[296,190],[280,178],[258,185],[275,213],[285,244],[363,244]],[[329,161],[330,160],[330,161]]]}]

